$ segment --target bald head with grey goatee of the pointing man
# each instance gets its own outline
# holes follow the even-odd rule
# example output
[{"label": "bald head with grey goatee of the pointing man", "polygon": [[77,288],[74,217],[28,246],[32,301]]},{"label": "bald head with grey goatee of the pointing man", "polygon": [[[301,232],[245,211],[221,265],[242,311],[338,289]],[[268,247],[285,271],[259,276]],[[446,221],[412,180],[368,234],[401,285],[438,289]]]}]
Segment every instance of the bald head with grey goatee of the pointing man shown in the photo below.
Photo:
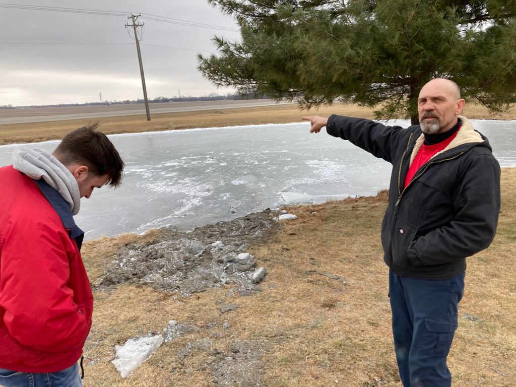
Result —
[{"label": "bald head with grey goatee of the pointing man", "polygon": [[417,99],[421,130],[426,134],[450,130],[464,108],[459,86],[453,80],[436,78],[421,88]]}]

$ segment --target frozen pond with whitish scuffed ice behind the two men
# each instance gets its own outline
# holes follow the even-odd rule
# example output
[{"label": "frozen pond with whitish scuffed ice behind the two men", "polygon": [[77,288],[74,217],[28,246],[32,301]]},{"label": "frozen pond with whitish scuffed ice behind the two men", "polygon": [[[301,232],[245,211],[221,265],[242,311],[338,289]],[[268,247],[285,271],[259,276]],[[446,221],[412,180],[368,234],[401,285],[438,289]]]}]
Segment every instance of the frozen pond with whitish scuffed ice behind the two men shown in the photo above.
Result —
[{"label": "frozen pond with whitish scuffed ice behind the two men", "polygon": [[[390,125],[408,126],[408,121]],[[473,120],[502,167],[516,166],[516,121]],[[391,165],[308,123],[112,135],[126,163],[120,188],[95,189],[75,220],[86,238],[180,229],[287,203],[376,195]],[[102,130],[102,128],[101,128]],[[58,141],[28,144],[52,152]],[[19,145],[0,147],[0,166]]]}]

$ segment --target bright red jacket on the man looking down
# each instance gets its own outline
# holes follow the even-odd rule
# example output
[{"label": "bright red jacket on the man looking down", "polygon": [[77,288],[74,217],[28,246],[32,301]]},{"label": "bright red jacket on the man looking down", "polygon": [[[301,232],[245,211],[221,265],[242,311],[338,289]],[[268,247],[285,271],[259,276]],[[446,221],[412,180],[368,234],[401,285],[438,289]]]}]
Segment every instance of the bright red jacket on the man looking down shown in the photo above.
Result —
[{"label": "bright red jacket on the man looking down", "polygon": [[80,358],[91,328],[88,276],[63,203],[58,214],[12,166],[0,168],[0,187],[0,368],[58,372]]}]

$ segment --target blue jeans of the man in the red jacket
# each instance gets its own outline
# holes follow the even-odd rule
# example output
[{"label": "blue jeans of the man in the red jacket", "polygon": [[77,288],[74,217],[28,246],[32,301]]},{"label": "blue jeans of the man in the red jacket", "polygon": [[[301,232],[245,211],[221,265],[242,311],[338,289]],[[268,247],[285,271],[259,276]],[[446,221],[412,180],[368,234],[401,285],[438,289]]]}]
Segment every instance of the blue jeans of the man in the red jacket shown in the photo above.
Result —
[{"label": "blue jeans of the man in the red jacket", "polygon": [[5,387],[81,387],[77,363],[59,372],[23,373],[0,368],[0,385]]}]

